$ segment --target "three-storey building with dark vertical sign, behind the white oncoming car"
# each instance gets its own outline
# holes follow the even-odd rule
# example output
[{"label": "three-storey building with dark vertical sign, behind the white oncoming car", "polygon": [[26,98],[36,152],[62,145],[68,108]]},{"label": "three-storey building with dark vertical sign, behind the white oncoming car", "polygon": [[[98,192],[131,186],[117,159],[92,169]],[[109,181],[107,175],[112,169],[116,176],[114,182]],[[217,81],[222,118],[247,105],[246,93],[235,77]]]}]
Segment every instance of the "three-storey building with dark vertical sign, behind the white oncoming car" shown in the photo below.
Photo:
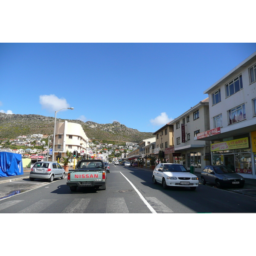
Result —
[{"label": "three-storey building with dark vertical sign, behind the white oncoming car", "polygon": [[209,99],[202,100],[168,125],[173,125],[174,134],[174,146],[168,149],[169,163],[180,163],[187,169],[194,166],[195,171],[201,172],[210,163],[210,143],[194,137],[209,129]]}]

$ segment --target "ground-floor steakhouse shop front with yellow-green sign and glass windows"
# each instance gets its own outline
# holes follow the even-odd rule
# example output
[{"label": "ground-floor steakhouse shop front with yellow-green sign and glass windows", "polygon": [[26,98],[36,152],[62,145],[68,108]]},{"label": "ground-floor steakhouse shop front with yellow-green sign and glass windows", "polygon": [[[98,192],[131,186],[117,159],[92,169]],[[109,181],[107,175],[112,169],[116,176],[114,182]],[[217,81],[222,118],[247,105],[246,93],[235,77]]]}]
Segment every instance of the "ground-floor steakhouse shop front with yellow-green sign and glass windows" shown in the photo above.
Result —
[{"label": "ground-floor steakhouse shop front with yellow-green sign and glass windows", "polygon": [[[252,178],[253,166],[249,145],[249,137],[212,143],[212,165],[229,166],[243,177]],[[253,155],[255,157],[255,153]]]}]

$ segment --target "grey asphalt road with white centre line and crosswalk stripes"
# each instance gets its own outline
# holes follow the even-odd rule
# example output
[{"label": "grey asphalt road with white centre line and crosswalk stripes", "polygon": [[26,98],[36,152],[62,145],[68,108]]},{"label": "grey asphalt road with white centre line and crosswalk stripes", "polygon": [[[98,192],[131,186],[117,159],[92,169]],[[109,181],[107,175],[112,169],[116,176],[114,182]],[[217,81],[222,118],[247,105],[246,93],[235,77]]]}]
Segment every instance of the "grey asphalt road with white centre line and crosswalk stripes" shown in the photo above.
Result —
[{"label": "grey asphalt road with white centre line and crosswalk stripes", "polygon": [[[163,189],[143,169],[110,165],[106,190],[71,192],[64,180],[17,180],[1,184],[0,213],[198,213],[256,212],[255,198],[211,186]],[[20,193],[17,192],[20,190]],[[6,193],[5,193],[6,194]]]}]

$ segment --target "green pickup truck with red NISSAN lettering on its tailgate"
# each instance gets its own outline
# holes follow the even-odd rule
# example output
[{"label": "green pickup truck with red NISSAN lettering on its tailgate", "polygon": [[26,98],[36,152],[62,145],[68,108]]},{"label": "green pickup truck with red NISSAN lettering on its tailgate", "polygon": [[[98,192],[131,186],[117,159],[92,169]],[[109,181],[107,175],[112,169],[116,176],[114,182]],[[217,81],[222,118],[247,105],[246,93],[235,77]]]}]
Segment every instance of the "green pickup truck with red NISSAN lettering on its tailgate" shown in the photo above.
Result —
[{"label": "green pickup truck with red NISSAN lettering on its tailgate", "polygon": [[80,160],[76,169],[69,170],[67,186],[71,191],[77,187],[94,187],[106,189],[106,168],[102,160]]}]

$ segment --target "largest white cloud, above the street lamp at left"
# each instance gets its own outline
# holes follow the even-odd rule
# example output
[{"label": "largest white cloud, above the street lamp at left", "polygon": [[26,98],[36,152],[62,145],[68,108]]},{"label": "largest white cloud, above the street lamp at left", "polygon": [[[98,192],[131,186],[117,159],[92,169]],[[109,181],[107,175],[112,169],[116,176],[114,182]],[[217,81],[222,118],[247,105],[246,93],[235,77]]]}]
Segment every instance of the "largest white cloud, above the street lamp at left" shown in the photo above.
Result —
[{"label": "largest white cloud, above the street lamp at left", "polygon": [[70,105],[67,103],[67,100],[64,98],[59,99],[54,94],[50,95],[40,95],[39,102],[42,105],[43,109],[48,111],[58,111],[61,108],[70,108]]}]

